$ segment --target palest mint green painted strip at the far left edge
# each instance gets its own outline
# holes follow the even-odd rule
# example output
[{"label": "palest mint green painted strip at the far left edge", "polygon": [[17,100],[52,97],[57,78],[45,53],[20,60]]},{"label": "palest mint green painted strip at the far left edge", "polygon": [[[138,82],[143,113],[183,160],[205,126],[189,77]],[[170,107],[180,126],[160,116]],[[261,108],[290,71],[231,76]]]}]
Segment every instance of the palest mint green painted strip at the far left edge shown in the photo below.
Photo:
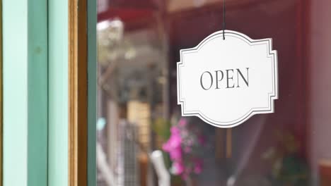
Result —
[{"label": "palest mint green painted strip at the far left edge", "polygon": [[4,186],[28,181],[27,7],[27,1],[3,0]]}]

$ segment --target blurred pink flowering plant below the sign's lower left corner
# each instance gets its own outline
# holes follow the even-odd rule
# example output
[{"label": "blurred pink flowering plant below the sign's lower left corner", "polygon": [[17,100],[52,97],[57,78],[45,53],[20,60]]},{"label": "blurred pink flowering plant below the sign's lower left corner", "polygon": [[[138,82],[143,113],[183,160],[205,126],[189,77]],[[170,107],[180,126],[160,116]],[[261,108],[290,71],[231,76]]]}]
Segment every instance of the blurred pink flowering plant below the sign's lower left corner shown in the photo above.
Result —
[{"label": "blurred pink flowering plant below the sign's lower left corner", "polygon": [[199,125],[180,118],[178,123],[170,128],[170,137],[163,144],[163,150],[169,153],[172,161],[171,172],[180,175],[183,180],[187,180],[191,174],[200,174],[206,144],[206,137]]}]

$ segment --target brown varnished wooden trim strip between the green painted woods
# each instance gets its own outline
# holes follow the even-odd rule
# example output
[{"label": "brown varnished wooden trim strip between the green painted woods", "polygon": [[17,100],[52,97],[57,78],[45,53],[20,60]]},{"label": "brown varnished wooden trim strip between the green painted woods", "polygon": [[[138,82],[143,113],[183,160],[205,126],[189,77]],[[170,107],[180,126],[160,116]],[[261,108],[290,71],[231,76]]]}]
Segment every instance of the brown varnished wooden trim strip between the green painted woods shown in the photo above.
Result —
[{"label": "brown varnished wooden trim strip between the green painted woods", "polygon": [[69,1],[69,186],[87,185],[87,0]]}]

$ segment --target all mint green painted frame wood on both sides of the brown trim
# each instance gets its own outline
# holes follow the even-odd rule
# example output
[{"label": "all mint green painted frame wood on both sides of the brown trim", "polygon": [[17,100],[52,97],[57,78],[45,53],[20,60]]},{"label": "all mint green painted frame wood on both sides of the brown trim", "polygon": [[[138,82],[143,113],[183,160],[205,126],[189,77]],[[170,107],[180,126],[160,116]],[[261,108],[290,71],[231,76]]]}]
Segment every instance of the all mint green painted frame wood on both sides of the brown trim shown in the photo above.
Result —
[{"label": "all mint green painted frame wood on both sides of the brown trim", "polygon": [[[68,1],[2,0],[4,186],[68,185]],[[87,2],[86,163],[94,186],[96,1]]]}]

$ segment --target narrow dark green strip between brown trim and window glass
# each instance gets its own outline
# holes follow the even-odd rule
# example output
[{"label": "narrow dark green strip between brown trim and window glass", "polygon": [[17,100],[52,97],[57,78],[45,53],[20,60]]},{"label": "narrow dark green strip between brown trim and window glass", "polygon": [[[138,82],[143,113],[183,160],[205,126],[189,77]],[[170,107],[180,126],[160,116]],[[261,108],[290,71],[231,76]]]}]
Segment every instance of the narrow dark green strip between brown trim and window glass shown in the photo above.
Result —
[{"label": "narrow dark green strip between brown trim and window glass", "polygon": [[96,1],[88,1],[88,186],[96,185]]}]

